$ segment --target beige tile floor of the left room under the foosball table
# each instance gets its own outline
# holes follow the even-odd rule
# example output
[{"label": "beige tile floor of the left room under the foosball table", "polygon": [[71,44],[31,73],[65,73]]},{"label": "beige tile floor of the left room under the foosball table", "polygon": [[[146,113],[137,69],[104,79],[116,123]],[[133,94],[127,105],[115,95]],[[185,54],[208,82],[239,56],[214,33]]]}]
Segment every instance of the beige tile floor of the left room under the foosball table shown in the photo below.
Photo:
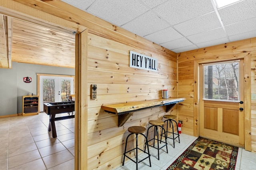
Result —
[{"label": "beige tile floor of the left room under the foosball table", "polygon": [[73,170],[74,119],[55,122],[57,138],[48,124],[46,113],[0,118],[0,170]]}]

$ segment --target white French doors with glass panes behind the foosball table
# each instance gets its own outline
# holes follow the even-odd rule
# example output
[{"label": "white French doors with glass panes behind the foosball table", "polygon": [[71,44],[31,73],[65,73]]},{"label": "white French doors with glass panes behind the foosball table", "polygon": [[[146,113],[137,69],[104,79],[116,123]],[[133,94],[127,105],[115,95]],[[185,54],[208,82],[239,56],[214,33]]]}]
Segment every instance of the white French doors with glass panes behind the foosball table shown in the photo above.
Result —
[{"label": "white French doors with glass panes behind the foosball table", "polygon": [[40,112],[44,103],[66,101],[68,95],[74,94],[74,77],[40,75]]}]

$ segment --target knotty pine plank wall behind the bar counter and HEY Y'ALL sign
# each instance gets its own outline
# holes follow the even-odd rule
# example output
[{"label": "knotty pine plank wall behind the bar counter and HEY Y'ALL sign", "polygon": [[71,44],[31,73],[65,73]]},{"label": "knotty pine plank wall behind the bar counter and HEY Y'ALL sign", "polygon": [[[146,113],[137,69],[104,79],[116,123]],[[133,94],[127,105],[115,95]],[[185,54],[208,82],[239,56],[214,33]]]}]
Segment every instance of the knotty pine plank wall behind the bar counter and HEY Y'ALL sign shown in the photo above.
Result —
[{"label": "knotty pine plank wall behind the bar counter and HEY Y'ALL sign", "polygon": [[[129,67],[130,50],[156,58],[158,71]],[[165,107],[136,111],[123,127],[118,128],[118,116],[104,112],[101,105],[159,99],[162,98],[162,89],[168,89],[169,97],[176,97],[176,54],[168,55],[169,57],[164,57],[154,49],[136,49],[88,34],[88,87],[91,84],[97,85],[95,100],[90,99],[88,88],[88,169],[111,169],[120,166],[124,143],[129,134],[127,128],[148,128],[149,120],[161,120],[166,114]],[[175,107],[168,113],[176,115],[176,110]],[[134,146],[133,137],[129,138],[129,148]],[[143,148],[144,138],[140,136],[139,142]]]}]

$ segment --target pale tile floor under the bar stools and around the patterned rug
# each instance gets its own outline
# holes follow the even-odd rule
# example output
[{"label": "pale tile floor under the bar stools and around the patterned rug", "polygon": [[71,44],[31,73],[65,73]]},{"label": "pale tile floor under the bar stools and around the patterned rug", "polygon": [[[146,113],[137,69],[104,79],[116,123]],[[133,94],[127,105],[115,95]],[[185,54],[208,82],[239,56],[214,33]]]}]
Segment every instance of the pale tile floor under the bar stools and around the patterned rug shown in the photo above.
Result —
[{"label": "pale tile floor under the bar stools and around the patterned rug", "polygon": [[[157,159],[158,153],[155,148],[150,147],[150,159],[151,159],[151,168],[149,166],[148,159],[140,162],[138,164],[139,170],[166,170],[178,156],[180,156],[186,148],[196,140],[197,137],[180,134],[180,143],[178,143],[178,139],[175,142],[175,148],[172,147],[172,139],[168,139],[168,154],[166,153],[166,147],[160,150],[160,160]],[[142,153],[138,156],[139,160],[146,158],[146,154]],[[136,164],[131,160],[125,161],[124,166],[120,166],[116,168],[116,170],[136,170]],[[238,158],[236,161],[236,169],[235,170],[256,170],[256,154],[252,152],[248,152],[242,148],[238,150]]]}]

